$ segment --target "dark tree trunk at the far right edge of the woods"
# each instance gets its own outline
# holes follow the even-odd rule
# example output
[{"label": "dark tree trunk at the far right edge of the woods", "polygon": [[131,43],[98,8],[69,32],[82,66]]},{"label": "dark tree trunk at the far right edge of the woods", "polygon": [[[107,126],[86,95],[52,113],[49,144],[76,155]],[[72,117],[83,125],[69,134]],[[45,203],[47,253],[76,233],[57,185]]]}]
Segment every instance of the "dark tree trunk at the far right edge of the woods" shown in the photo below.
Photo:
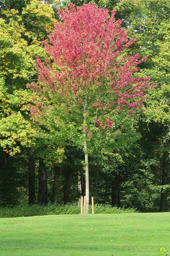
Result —
[{"label": "dark tree trunk at the far right edge of the woods", "polygon": [[[168,184],[168,165],[169,165],[169,152],[168,152],[168,146],[170,145],[170,141],[167,140],[164,147],[167,148],[164,151],[163,156],[163,166],[162,166],[162,185]],[[166,197],[167,192],[164,192],[164,189],[161,190],[161,198],[160,198],[160,212],[166,211]]]}]

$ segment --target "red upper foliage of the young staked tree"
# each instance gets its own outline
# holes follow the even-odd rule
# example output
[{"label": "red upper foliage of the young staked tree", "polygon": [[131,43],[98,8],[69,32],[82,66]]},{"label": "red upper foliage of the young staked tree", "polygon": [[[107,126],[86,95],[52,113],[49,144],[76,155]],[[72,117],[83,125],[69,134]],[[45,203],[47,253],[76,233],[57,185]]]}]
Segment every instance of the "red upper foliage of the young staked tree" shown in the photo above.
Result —
[{"label": "red upper foliage of the young staked tree", "polygon": [[[103,81],[107,81],[114,100],[103,107],[101,101],[96,99],[96,103],[92,102],[93,107],[109,109],[111,102],[117,104],[117,109],[122,106],[138,108],[142,104],[150,78],[134,78],[133,73],[138,72],[137,65],[147,57],[139,60],[140,56],[136,54],[118,60],[122,51],[136,38],[128,41],[128,32],[121,28],[120,19],[115,21],[115,13],[113,10],[108,19],[107,9],[97,8],[95,4],[77,8],[70,4],[69,10],[59,10],[62,22],[56,22],[53,33],[49,35],[50,44],[43,42],[46,51],[53,57],[53,66],[49,60],[45,65],[40,59],[35,65],[43,92],[51,90],[62,97],[71,92],[80,105],[80,98],[88,87],[100,89]],[[42,90],[35,83],[30,88],[39,91],[39,94]],[[111,122],[105,119],[109,128]],[[97,118],[95,124],[100,126]]]}]

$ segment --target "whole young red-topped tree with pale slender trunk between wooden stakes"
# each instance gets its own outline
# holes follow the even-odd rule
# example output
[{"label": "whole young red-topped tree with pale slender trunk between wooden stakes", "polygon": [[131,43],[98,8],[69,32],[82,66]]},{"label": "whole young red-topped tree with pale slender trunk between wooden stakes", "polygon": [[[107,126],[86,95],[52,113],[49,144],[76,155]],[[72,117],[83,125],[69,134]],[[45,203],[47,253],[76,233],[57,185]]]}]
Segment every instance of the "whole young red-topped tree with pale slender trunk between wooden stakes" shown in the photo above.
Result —
[{"label": "whole young red-topped tree with pale slender trunk between wooden stakes", "polygon": [[72,141],[77,139],[77,144],[82,145],[86,213],[89,141],[99,131],[111,132],[112,115],[121,108],[130,112],[139,108],[150,81],[148,77],[133,76],[139,70],[137,65],[147,57],[141,60],[139,54],[121,57],[136,39],[128,40],[121,20],[115,21],[115,12],[108,18],[108,11],[95,4],[77,8],[70,4],[69,10],[59,10],[62,22],[55,24],[49,35],[50,44],[44,42],[52,61],[46,60],[44,64],[37,59],[38,83],[28,86],[39,98],[35,106],[30,106],[34,119],[45,123],[45,115],[46,118],[52,115],[55,126],[60,117],[69,127],[69,134],[72,129]]}]

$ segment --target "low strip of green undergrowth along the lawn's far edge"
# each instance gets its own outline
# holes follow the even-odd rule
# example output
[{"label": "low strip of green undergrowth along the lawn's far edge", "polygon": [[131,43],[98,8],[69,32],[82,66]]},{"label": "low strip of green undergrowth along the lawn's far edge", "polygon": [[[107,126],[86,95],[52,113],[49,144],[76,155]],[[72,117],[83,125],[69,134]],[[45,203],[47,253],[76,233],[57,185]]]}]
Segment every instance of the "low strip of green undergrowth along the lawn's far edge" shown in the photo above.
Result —
[{"label": "low strip of green undergrowth along the lawn's far edge", "polygon": [[[132,208],[117,208],[111,205],[95,204],[94,211],[96,214],[102,213],[132,213],[136,212],[136,209]],[[91,214],[91,205],[89,206],[89,213]],[[80,206],[74,204],[61,204],[54,205],[49,204],[47,206],[32,205],[32,206],[15,206],[13,208],[1,207],[0,218],[12,218],[12,217],[28,217],[28,216],[40,216],[40,215],[58,215],[58,214],[80,214]]]}]

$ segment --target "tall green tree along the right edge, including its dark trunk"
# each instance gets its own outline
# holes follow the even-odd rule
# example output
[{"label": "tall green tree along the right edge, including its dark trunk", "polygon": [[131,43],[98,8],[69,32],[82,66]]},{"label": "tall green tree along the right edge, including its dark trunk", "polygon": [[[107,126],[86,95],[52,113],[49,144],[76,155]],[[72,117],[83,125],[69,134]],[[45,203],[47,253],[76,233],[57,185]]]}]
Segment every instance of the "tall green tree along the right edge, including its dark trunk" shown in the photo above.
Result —
[{"label": "tall green tree along the right edge, including its dark trunk", "polygon": [[[109,3],[109,0],[104,1]],[[128,28],[129,35],[137,37],[135,47],[131,52],[136,53],[141,49],[142,56],[150,58],[142,65],[140,73],[151,76],[158,83],[158,88],[150,91],[145,101],[145,114],[143,122],[152,122],[152,125],[162,127],[159,131],[162,154],[162,193],[160,211],[165,210],[166,197],[168,195],[168,162],[169,162],[169,12],[168,0],[121,0],[115,7],[119,17],[123,18],[123,24]],[[143,47],[144,45],[144,47]],[[150,135],[149,135],[150,136]],[[155,134],[155,136],[157,136]],[[155,138],[156,139],[156,138]],[[154,146],[154,140],[152,141]],[[155,172],[156,173],[156,172]],[[164,198],[164,200],[162,200]],[[162,202],[164,202],[162,204]]]}]

